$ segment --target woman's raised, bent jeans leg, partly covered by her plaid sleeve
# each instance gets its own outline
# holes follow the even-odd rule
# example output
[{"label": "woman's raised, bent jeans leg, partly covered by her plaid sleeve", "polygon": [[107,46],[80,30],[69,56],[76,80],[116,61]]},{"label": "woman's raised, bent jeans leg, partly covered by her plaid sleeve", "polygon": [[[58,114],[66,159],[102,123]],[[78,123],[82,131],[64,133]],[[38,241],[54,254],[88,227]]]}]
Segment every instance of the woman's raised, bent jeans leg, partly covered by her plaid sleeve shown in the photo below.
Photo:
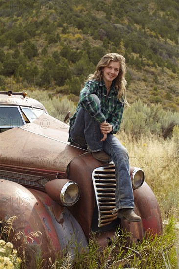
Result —
[{"label": "woman's raised, bent jeans leg, partly covered by her plaid sleeve", "polygon": [[[100,106],[99,98],[92,94],[93,98]],[[71,130],[71,139],[81,147],[88,146],[92,152],[100,151],[103,149],[101,140],[100,124],[91,117],[90,113],[83,109],[79,109],[75,123]]]}]

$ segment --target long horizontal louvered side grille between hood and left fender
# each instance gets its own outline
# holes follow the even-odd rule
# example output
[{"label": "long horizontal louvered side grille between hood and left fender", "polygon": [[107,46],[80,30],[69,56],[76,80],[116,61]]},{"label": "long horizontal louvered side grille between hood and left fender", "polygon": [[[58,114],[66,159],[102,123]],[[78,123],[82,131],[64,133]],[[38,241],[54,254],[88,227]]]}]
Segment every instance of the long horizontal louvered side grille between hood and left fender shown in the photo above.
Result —
[{"label": "long horizontal louvered side grille between hood and left fender", "polygon": [[22,185],[45,188],[45,184],[49,181],[45,177],[27,175],[23,173],[9,172],[0,170],[0,179],[13,181]]}]

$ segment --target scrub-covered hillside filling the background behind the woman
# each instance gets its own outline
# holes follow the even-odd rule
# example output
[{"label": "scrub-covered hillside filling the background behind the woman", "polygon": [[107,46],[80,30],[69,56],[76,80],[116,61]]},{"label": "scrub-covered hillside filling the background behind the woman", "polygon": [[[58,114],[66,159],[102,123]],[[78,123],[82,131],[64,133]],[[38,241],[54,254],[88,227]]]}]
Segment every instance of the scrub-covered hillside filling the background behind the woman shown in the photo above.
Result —
[{"label": "scrub-covered hillside filling the background behind the woman", "polygon": [[76,100],[108,52],[124,55],[130,103],[178,110],[178,0],[0,2],[1,90]]}]

